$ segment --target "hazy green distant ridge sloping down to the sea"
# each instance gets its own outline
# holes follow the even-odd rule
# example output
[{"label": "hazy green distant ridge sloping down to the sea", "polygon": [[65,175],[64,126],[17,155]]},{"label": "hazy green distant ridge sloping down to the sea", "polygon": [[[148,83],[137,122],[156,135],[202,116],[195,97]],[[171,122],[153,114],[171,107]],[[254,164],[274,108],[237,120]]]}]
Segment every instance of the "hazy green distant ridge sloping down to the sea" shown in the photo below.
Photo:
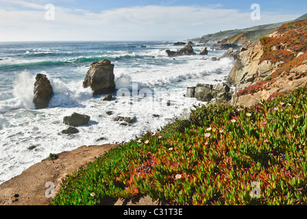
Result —
[{"label": "hazy green distant ridge sloping down to the sea", "polygon": [[272,23],[268,25],[258,25],[254,27],[248,27],[244,29],[232,29],[227,31],[219,31],[214,34],[206,34],[200,38],[193,38],[192,41],[199,43],[216,43],[220,40],[228,41],[235,44],[243,44],[247,40],[259,40],[262,36],[267,36],[274,31],[276,28],[282,26],[285,23],[291,23],[295,21],[303,21],[307,18],[307,14],[300,16],[293,21],[285,21],[281,23]]}]

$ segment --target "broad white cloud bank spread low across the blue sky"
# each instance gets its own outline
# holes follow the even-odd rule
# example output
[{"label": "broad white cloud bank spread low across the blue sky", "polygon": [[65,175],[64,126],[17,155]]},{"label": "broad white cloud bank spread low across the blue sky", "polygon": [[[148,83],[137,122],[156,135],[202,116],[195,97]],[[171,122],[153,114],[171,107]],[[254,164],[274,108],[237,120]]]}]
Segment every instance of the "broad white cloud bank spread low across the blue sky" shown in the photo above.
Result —
[{"label": "broad white cloud bank spread low across the blue sky", "polygon": [[[11,1],[1,2],[10,4]],[[177,40],[220,30],[287,21],[286,19],[290,21],[299,16],[264,12],[262,20],[255,22],[251,21],[250,12],[223,9],[217,5],[147,5],[102,10],[99,13],[55,5],[55,20],[47,21],[47,10],[41,3],[14,1],[10,7],[14,10],[5,7],[0,10],[0,41]]]}]

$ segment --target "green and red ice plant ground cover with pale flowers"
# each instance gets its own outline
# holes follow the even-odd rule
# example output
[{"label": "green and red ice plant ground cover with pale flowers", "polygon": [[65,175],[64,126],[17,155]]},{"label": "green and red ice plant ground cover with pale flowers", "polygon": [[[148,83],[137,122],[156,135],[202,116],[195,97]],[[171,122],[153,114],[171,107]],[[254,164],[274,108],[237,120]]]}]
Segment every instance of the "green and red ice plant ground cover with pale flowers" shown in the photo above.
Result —
[{"label": "green and red ice plant ground cover with pale flowers", "polygon": [[307,203],[306,88],[253,107],[195,108],[190,120],[174,120],[67,175],[51,205],[138,194],[188,205]]}]

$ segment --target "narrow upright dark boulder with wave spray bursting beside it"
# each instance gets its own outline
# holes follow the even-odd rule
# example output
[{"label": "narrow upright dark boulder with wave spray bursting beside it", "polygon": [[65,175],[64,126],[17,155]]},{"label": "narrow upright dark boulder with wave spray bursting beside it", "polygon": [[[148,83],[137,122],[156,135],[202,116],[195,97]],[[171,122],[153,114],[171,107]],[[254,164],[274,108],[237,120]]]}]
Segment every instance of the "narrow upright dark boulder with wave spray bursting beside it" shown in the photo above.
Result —
[{"label": "narrow upright dark boulder with wave spray bursting beside it", "polygon": [[35,79],[33,103],[36,109],[43,109],[48,107],[53,96],[53,90],[46,75],[37,74]]}]

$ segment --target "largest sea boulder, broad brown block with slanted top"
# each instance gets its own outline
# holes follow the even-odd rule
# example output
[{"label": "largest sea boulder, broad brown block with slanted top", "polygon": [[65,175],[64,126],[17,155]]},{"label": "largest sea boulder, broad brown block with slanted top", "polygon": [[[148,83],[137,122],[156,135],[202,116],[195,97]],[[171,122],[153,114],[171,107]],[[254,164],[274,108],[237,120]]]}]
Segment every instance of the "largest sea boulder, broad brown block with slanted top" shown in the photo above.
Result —
[{"label": "largest sea boulder, broad brown block with slanted top", "polygon": [[110,60],[101,60],[90,64],[83,81],[84,88],[92,88],[94,95],[114,92],[114,64]]}]

